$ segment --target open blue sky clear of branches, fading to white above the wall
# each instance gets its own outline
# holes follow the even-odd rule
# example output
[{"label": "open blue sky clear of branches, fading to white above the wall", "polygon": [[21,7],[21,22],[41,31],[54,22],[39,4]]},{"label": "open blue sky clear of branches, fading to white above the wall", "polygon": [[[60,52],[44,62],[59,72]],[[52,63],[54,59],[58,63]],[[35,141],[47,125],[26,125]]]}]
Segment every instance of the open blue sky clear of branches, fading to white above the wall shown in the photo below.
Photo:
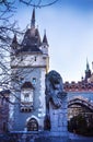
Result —
[{"label": "open blue sky clear of branches, fading to white above the wall", "polygon": [[[13,20],[23,29],[30,25],[32,8],[19,5]],[[49,70],[58,71],[65,81],[84,75],[86,58],[93,61],[93,0],[59,0],[51,7],[36,9],[36,25],[49,43]]]}]

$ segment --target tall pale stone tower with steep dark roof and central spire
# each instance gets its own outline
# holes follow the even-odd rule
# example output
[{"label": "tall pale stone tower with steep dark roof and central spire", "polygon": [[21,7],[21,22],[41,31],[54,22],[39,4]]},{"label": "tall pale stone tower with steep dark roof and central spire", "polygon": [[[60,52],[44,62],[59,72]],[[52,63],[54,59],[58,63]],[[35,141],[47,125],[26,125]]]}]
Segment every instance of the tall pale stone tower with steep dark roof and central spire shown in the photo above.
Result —
[{"label": "tall pale stone tower with steep dark roof and central spire", "polygon": [[33,9],[31,27],[19,44],[16,35],[11,45],[10,131],[43,131],[46,114],[45,74],[48,70],[46,32],[40,40]]}]

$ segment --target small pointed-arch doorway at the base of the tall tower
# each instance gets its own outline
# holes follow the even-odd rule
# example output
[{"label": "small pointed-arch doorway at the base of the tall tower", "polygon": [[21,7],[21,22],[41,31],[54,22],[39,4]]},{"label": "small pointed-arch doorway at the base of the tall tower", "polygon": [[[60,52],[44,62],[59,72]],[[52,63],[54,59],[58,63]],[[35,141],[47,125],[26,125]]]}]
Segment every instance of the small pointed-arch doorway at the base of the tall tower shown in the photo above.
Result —
[{"label": "small pointed-arch doorway at the base of the tall tower", "polygon": [[31,118],[27,122],[27,131],[38,131],[38,122],[35,118]]}]

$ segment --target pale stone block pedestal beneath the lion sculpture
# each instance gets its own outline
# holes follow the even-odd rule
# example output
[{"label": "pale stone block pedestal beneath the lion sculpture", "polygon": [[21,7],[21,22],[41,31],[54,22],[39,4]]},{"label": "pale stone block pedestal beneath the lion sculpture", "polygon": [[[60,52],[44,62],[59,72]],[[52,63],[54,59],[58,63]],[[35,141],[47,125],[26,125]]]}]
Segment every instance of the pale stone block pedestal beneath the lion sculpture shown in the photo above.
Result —
[{"label": "pale stone block pedestal beneath the lion sculpture", "polygon": [[51,125],[50,134],[54,137],[68,137],[67,95],[62,97],[60,108],[55,108],[55,106],[49,103],[49,114]]}]

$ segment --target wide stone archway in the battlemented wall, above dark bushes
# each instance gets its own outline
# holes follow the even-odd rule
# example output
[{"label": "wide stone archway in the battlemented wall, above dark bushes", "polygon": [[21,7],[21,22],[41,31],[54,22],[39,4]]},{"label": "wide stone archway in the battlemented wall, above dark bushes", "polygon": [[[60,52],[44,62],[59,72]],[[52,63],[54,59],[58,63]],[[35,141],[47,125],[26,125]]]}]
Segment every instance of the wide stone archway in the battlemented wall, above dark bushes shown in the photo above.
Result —
[{"label": "wide stone archway in the battlemented wall, above dark bushes", "polygon": [[68,102],[68,120],[78,115],[83,115],[85,118],[89,118],[90,115],[93,116],[93,104],[78,96],[70,99]]}]

